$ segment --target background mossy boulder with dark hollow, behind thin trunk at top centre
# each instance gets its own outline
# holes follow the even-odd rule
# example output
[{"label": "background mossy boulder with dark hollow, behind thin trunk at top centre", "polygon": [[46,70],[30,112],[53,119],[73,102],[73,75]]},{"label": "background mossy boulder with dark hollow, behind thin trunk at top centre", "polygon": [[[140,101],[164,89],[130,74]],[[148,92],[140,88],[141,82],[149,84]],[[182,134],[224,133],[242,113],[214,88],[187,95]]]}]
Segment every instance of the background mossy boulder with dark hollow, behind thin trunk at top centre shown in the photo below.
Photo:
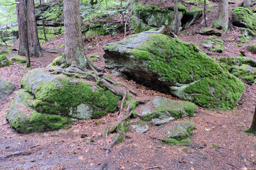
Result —
[{"label": "background mossy boulder with dark hollow, behind thin trunk at top centre", "polygon": [[[178,26],[180,30],[184,30],[191,26],[202,15],[201,8],[190,6],[186,8],[182,4],[178,5]],[[159,6],[143,6],[138,4],[134,8],[134,16],[132,16],[132,25],[137,33],[152,28],[160,28],[161,26],[169,26],[174,31],[175,28],[174,6],[169,8],[159,8]]]}]

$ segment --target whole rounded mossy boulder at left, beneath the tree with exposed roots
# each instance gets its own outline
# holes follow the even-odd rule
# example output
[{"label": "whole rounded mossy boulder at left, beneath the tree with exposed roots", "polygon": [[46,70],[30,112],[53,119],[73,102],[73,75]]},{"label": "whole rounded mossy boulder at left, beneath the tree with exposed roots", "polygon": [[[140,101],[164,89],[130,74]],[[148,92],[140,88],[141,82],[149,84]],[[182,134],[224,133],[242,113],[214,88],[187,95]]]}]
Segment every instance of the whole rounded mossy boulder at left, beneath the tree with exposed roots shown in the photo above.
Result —
[{"label": "whole rounded mossy boulder at left, beneath the tree with exposed roots", "polygon": [[[23,77],[21,86],[22,89],[11,103],[6,116],[11,126],[19,132],[54,130],[69,123],[66,118],[99,118],[117,109],[117,96],[110,91],[92,85],[91,82],[53,76],[44,69],[28,72]],[[21,105],[23,108],[18,107]],[[45,117],[53,127],[49,127],[47,122],[41,125],[42,128],[31,128],[38,123],[36,118]]]}]

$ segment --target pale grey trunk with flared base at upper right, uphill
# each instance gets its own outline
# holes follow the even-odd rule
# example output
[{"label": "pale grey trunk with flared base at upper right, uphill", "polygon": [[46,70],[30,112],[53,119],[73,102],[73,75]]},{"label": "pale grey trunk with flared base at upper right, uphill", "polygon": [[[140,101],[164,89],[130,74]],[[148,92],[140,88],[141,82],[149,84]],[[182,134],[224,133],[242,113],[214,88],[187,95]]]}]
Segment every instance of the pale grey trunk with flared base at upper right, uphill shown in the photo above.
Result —
[{"label": "pale grey trunk with flared base at upper right, uphill", "polygon": [[218,18],[213,26],[218,29],[228,30],[228,0],[220,0],[218,4]]}]

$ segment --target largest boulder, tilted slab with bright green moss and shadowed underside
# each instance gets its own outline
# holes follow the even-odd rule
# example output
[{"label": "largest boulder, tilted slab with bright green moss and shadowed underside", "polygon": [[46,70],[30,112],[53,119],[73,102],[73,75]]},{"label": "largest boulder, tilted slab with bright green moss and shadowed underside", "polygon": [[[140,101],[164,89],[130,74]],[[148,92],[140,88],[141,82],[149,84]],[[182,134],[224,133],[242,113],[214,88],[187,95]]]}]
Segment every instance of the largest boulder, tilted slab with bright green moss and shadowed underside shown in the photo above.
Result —
[{"label": "largest boulder, tilted slab with bright green moss and shadowed underside", "polygon": [[235,108],[245,89],[197,45],[166,35],[130,35],[104,50],[107,68],[205,108]]}]

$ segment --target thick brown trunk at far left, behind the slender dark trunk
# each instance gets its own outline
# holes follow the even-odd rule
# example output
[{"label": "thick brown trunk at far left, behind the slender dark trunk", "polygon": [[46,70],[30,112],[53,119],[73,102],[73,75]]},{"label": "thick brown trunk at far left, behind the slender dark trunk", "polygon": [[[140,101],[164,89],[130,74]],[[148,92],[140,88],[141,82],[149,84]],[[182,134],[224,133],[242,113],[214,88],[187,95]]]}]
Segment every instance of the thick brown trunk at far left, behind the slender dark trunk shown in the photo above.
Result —
[{"label": "thick brown trunk at far left, behind the slender dark trunk", "polygon": [[[16,0],[17,2],[23,2],[23,0]],[[18,16],[18,35],[19,35],[19,47],[18,55],[26,55],[25,47],[25,35],[24,35],[24,6],[23,4],[17,4],[17,16]],[[36,15],[35,5],[33,0],[28,0],[28,47],[30,55],[35,57],[41,57],[41,47],[38,40],[38,33],[36,28]]]}]

